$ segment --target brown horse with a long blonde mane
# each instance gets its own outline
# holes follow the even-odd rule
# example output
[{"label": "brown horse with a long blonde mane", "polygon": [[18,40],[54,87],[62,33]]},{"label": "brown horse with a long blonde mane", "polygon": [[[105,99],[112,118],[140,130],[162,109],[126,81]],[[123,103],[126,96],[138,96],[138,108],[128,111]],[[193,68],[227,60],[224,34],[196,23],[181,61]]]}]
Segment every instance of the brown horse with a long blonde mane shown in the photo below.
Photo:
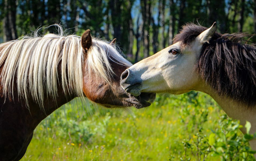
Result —
[{"label": "brown horse with a long blonde mane", "polygon": [[0,44],[0,160],[21,159],[39,122],[75,97],[105,107],[149,106],[155,94],[135,97],[120,86],[129,66],[115,45],[92,39],[90,30]]}]

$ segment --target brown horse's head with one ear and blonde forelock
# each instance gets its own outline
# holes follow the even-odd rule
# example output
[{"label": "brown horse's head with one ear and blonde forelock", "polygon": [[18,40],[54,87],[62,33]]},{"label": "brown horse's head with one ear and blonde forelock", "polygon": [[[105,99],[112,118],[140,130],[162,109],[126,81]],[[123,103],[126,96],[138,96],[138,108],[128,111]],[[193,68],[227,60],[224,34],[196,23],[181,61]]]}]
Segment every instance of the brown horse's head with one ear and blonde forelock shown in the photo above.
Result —
[{"label": "brown horse's head with one ear and blonde forelock", "polygon": [[83,92],[87,98],[105,107],[143,108],[154,101],[155,94],[142,93],[135,97],[122,89],[120,76],[132,64],[119,54],[113,42],[94,40],[87,30],[81,43],[85,56]]}]

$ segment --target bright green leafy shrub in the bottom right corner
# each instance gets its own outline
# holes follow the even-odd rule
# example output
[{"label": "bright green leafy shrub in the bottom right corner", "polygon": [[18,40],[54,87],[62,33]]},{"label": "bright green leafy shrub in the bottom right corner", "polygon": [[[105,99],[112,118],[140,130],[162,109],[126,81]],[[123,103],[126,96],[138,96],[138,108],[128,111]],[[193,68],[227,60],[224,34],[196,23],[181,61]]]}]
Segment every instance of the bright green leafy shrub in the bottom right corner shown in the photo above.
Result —
[{"label": "bright green leafy shrub in the bottom right corner", "polygon": [[[247,122],[247,125],[250,124]],[[219,120],[219,128],[209,135],[209,145],[211,146],[211,156],[221,156],[222,160],[255,160],[255,151],[251,150],[249,141],[254,139],[250,135],[250,128],[247,134],[242,136],[239,129],[242,125],[238,120],[232,120],[227,115],[222,115]]]}]

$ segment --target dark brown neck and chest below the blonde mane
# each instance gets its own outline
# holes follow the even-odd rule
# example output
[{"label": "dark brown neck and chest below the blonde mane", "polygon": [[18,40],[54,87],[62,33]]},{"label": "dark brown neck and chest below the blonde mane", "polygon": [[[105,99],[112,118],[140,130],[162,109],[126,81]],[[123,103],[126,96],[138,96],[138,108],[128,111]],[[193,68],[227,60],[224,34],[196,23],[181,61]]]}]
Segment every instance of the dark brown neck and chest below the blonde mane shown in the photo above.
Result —
[{"label": "dark brown neck and chest below the blonde mane", "polygon": [[56,99],[45,96],[43,111],[32,97],[30,97],[27,106],[26,101],[19,98],[17,93],[14,94],[13,98],[4,98],[1,95],[0,160],[21,159],[33,137],[36,126],[53,111],[73,98],[75,95],[66,96],[60,85]]}]

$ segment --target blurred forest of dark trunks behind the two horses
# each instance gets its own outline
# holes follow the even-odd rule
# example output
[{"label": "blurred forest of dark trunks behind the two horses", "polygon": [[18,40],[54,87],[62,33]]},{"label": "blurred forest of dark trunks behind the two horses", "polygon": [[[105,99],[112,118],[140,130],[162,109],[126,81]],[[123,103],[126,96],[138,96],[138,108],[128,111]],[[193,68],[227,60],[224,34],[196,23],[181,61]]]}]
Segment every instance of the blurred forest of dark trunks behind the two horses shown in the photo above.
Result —
[{"label": "blurred forest of dark trunks behind the two horses", "polygon": [[256,0],[0,0],[0,20],[1,43],[58,23],[69,34],[91,29],[95,37],[117,38],[137,62],[169,46],[187,22],[255,33]]}]

